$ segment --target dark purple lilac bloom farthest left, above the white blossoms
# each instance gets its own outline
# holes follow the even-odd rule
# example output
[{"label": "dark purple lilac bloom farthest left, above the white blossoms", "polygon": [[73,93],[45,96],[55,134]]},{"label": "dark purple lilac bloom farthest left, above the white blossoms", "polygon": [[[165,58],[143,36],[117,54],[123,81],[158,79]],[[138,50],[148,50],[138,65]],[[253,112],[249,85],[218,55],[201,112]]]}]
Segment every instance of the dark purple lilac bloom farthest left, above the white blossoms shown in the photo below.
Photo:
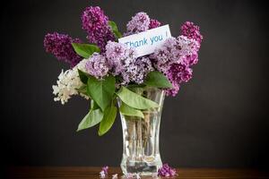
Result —
[{"label": "dark purple lilac bloom farthest left, above the white blossoms", "polygon": [[46,52],[55,55],[59,61],[64,61],[74,67],[82,60],[82,57],[74,52],[72,43],[82,43],[82,40],[79,38],[73,39],[68,35],[57,32],[48,33],[44,38]]}]

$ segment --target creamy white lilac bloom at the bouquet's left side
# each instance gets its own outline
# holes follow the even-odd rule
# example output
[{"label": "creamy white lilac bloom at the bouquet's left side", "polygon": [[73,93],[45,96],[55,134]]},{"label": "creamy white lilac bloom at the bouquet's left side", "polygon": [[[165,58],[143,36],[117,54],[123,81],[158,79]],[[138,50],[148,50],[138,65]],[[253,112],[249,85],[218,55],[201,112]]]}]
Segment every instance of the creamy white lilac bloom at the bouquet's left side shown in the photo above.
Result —
[{"label": "creamy white lilac bloom at the bouquet's left side", "polygon": [[69,98],[73,95],[80,94],[82,97],[87,98],[87,96],[79,93],[77,89],[81,88],[83,83],[79,78],[78,70],[80,69],[84,71],[84,65],[86,60],[83,59],[79,64],[74,66],[73,69],[69,69],[67,71],[63,71],[59,74],[58,80],[56,81],[56,85],[52,86],[53,94],[56,95],[54,98],[55,101],[61,101],[64,105]]}]

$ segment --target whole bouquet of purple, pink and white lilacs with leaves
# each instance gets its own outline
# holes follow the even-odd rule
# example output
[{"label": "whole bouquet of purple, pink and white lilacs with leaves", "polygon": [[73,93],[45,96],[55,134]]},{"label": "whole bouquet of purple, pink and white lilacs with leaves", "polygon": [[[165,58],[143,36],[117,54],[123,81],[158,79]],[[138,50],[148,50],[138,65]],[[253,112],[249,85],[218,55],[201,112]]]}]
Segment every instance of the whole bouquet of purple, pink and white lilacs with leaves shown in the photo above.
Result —
[{"label": "whole bouquet of purple, pink and white lilacs with leaves", "polygon": [[[193,22],[186,21],[180,35],[168,38],[153,54],[137,57],[134,48],[117,42],[122,34],[100,7],[87,7],[81,20],[87,43],[57,32],[48,33],[44,39],[48,53],[70,64],[52,87],[55,101],[65,104],[73,95],[91,100],[91,109],[78,131],[100,124],[99,134],[108,132],[117,115],[117,98],[123,102],[119,111],[125,115],[143,117],[143,110],[158,107],[156,102],[135,93],[134,87],[159,88],[168,96],[176,96],[180,86],[192,78],[192,66],[198,62],[203,39]],[[159,26],[161,22],[146,13],[136,13],[127,22],[123,36]]]}]

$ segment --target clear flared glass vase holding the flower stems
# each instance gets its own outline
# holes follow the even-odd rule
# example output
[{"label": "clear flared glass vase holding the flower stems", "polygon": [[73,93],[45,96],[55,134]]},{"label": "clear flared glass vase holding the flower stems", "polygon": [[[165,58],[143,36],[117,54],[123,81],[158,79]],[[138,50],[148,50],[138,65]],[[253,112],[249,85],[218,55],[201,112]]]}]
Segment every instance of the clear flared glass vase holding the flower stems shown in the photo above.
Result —
[{"label": "clear flared glass vase holding the flower stems", "polygon": [[[123,131],[121,169],[125,175],[152,175],[162,166],[159,151],[161,110],[165,92],[157,88],[136,88],[133,91],[159,104],[143,110],[144,118],[120,114]],[[118,99],[118,105],[121,101]]]}]

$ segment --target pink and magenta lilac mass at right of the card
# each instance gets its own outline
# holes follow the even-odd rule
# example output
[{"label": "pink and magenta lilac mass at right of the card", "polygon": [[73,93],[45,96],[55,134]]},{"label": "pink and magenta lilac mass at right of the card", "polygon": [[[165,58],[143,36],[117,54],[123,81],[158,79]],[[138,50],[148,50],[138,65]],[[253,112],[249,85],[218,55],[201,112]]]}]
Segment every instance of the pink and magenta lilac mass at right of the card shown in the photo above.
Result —
[{"label": "pink and magenta lilac mass at right of the card", "polygon": [[[191,30],[187,28],[191,28]],[[192,78],[192,65],[198,62],[198,51],[203,39],[198,31],[199,28],[193,23],[190,25],[190,22],[187,21],[182,25],[181,30],[184,34],[178,38],[168,38],[151,55],[157,70],[163,72],[173,85],[172,89],[166,90],[169,96],[176,96],[180,84]]]}]

